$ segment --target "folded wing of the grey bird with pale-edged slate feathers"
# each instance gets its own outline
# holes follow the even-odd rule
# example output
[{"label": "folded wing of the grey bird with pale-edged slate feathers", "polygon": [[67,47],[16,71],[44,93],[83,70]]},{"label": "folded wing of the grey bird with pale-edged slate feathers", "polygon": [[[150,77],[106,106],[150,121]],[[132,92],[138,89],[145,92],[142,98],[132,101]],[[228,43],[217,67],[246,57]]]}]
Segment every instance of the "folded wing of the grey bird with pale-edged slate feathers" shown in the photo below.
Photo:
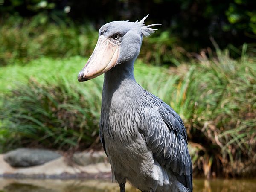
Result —
[{"label": "folded wing of the grey bird with pale-edged slate feathers", "polygon": [[142,133],[155,159],[176,174],[184,186],[190,188],[192,162],[187,148],[186,129],[180,116],[165,103],[157,107],[146,107]]}]

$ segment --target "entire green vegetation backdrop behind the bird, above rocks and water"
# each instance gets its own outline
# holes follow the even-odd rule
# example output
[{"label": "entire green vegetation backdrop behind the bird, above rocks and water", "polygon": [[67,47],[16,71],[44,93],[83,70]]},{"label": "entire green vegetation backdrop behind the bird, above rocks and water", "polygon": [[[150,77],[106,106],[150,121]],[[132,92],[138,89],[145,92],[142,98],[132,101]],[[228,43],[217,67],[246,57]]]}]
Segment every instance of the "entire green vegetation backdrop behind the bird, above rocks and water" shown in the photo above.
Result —
[{"label": "entire green vegetation backdrop behind the bird, above rocks and water", "polygon": [[163,26],[144,38],[135,76],[184,120],[194,175],[256,176],[254,4],[0,0],[0,152],[100,149],[103,78],[77,74],[102,24],[149,13]]}]

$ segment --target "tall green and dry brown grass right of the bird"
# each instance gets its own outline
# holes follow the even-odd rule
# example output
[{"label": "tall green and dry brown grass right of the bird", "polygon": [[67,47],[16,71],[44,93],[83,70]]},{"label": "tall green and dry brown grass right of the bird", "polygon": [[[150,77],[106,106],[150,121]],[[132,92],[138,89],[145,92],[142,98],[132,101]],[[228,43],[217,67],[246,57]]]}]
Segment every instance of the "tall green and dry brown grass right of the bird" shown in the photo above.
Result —
[{"label": "tall green and dry brown grass right of the bird", "polygon": [[148,86],[184,119],[198,149],[192,155],[195,172],[204,170],[206,177],[256,171],[256,59],[247,57],[246,47],[239,60],[228,50],[217,49],[212,59],[202,53],[178,77]]}]

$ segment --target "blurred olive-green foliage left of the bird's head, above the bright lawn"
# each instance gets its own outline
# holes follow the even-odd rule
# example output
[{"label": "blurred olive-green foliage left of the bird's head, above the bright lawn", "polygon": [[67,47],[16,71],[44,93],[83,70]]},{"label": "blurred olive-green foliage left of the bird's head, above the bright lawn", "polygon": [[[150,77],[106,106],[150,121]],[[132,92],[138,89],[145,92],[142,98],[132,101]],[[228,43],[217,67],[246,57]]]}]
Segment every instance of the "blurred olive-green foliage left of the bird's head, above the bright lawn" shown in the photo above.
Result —
[{"label": "blurred olive-green foliage left of the bird's head, above the bright lawn", "polygon": [[67,25],[57,16],[56,23],[49,22],[44,15],[36,15],[30,20],[9,17],[0,28],[0,65],[13,63],[19,59],[26,63],[30,59],[47,55],[68,57],[90,55],[93,51],[98,32],[90,26]]}]

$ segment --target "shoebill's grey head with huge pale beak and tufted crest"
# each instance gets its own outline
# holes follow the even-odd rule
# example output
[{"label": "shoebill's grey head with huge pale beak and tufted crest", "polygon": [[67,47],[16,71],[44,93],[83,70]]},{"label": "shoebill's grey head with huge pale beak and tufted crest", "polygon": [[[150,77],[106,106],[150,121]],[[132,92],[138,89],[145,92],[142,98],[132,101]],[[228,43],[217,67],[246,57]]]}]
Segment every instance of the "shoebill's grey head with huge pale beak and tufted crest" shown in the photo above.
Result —
[{"label": "shoebill's grey head with huge pale beak and tufted crest", "polygon": [[143,36],[148,36],[157,29],[145,26],[144,21],[113,21],[99,29],[99,38],[93,54],[78,75],[83,82],[99,76],[112,67],[134,60],[140,53]]}]

